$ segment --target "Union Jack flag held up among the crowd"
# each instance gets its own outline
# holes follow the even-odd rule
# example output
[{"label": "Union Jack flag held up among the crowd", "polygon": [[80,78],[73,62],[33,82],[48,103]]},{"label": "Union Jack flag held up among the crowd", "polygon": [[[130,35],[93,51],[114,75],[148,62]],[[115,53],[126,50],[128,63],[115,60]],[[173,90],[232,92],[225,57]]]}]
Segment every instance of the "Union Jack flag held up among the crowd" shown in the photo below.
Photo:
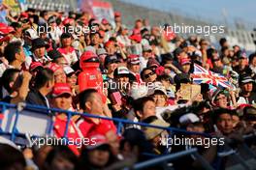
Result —
[{"label": "Union Jack flag held up among the crowd", "polygon": [[224,75],[208,71],[197,64],[194,64],[194,72],[191,75],[196,84],[207,83],[220,88],[234,89],[234,86]]}]

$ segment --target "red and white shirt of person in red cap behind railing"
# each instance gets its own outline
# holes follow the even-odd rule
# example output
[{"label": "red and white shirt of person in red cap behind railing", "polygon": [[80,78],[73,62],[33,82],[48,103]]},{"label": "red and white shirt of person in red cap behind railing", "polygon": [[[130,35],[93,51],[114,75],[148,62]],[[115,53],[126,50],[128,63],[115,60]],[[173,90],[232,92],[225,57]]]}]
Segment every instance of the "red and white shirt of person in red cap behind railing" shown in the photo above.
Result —
[{"label": "red and white shirt of person in red cap behind railing", "polygon": [[[67,118],[64,120],[60,118],[60,116],[55,117],[55,123],[54,123],[54,134],[57,138],[61,138],[64,136],[65,129],[67,124]],[[77,128],[76,124],[71,120],[68,128],[67,138],[69,140],[73,141],[80,141],[82,138],[82,135],[80,134],[80,129]],[[76,140],[78,139],[78,140]],[[72,142],[73,142],[72,141]],[[71,141],[70,141],[71,142]],[[73,142],[73,143],[75,143]],[[68,147],[73,151],[77,156],[80,155],[79,148],[76,144],[72,145],[73,143],[69,143]]]}]

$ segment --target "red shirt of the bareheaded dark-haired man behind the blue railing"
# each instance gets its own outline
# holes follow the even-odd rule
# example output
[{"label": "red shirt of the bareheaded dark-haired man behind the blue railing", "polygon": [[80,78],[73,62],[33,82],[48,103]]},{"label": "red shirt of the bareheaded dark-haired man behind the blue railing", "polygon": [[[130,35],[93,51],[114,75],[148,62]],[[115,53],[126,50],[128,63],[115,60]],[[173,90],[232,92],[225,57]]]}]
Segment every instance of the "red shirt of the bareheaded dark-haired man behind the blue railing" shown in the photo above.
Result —
[{"label": "red shirt of the bareheaded dark-haired man behind the blue railing", "polygon": [[94,123],[90,118],[82,118],[78,122],[77,126],[80,128],[80,132],[83,137],[87,137],[91,134],[102,134],[106,135],[107,132],[113,130],[113,132],[117,132],[112,121],[100,119],[100,123]]}]

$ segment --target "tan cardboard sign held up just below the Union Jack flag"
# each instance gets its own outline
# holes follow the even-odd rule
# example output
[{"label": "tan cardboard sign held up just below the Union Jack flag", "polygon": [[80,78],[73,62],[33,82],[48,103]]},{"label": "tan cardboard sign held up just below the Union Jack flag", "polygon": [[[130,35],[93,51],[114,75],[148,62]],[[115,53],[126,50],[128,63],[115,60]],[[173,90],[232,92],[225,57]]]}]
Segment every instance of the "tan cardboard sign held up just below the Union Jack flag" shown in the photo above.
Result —
[{"label": "tan cardboard sign held up just below the Union Jack flag", "polygon": [[193,99],[198,94],[201,94],[201,86],[198,84],[181,84],[180,94],[182,99]]}]

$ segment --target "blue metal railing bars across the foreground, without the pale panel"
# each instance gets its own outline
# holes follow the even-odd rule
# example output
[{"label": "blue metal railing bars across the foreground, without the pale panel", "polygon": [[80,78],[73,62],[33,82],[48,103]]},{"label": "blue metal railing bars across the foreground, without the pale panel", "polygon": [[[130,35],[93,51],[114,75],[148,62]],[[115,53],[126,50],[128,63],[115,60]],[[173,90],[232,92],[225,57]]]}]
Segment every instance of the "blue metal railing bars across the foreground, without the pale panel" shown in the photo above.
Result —
[{"label": "blue metal railing bars across the foreground, without the pale panel", "polygon": [[[186,131],[186,130],[180,129],[180,128],[164,128],[164,127],[153,126],[153,125],[149,125],[149,124],[145,124],[145,123],[135,123],[135,122],[124,120],[124,119],[102,117],[102,116],[97,116],[97,115],[91,115],[91,114],[88,114],[88,113],[82,113],[81,114],[79,112],[72,112],[72,111],[61,110],[61,109],[57,109],[57,108],[47,108],[47,107],[44,107],[44,106],[31,105],[31,104],[25,104],[25,103],[18,103],[16,105],[16,104],[0,102],[0,109],[1,109],[1,113],[0,113],[0,135],[10,136],[10,140],[12,140],[14,142],[16,142],[16,138],[18,138],[18,137],[28,139],[26,133],[21,133],[16,128],[19,117],[22,115],[22,111],[24,111],[24,110],[25,111],[28,110],[28,111],[32,111],[32,112],[34,111],[34,114],[44,115],[44,116],[47,116],[49,118],[53,118],[54,113],[65,113],[67,115],[67,123],[66,123],[63,138],[66,139],[66,140],[68,140],[68,138],[67,138],[68,125],[71,121],[72,116],[74,116],[74,115],[81,115],[81,116],[84,116],[84,117],[99,118],[99,119],[105,119],[105,120],[110,120],[110,121],[116,122],[118,133],[121,132],[124,124],[133,124],[133,125],[137,125],[137,126],[141,126],[141,127],[147,127],[147,128],[162,128],[162,129],[165,129],[165,130],[167,130],[167,131],[169,131],[173,134],[174,133],[183,133],[183,134],[186,134],[186,135],[197,134],[197,135],[203,135],[203,136],[211,137],[208,133],[190,132],[190,131]],[[3,116],[1,116],[1,114],[4,114],[9,109],[15,109],[15,113],[14,113],[15,117],[14,117],[13,128],[12,128],[11,131],[4,131],[1,128],[1,125],[3,123],[3,119],[1,119]],[[48,113],[48,115],[46,115],[46,113]],[[47,118],[45,118],[45,119],[47,119]],[[47,128],[47,131],[46,131],[45,135],[50,135],[53,131],[54,121],[52,119],[50,119],[49,122],[50,122],[48,124],[49,128]],[[39,136],[33,134],[32,137],[39,137]],[[250,149],[248,147],[245,148],[245,149],[246,149],[246,151],[249,152],[249,154],[251,156],[253,156],[255,158],[255,154],[252,151],[250,151]],[[237,160],[239,160],[239,162],[241,163],[241,165],[243,165],[243,167],[248,168],[247,164],[245,163],[245,160],[243,160],[237,152],[231,153],[228,156],[231,156],[231,155],[235,156],[235,158]],[[153,157],[152,159],[136,164],[134,166],[134,169],[142,169],[142,168],[148,167],[150,165],[157,164],[159,162],[173,160],[173,159],[175,159],[177,157],[180,157],[180,156],[194,156],[202,163],[202,165],[204,166],[205,169],[213,169],[209,165],[208,161],[203,156],[199,155],[196,148],[192,148],[190,150],[186,150],[186,151],[175,153],[175,154],[168,154],[168,155],[157,156],[157,157],[152,156]]]}]

